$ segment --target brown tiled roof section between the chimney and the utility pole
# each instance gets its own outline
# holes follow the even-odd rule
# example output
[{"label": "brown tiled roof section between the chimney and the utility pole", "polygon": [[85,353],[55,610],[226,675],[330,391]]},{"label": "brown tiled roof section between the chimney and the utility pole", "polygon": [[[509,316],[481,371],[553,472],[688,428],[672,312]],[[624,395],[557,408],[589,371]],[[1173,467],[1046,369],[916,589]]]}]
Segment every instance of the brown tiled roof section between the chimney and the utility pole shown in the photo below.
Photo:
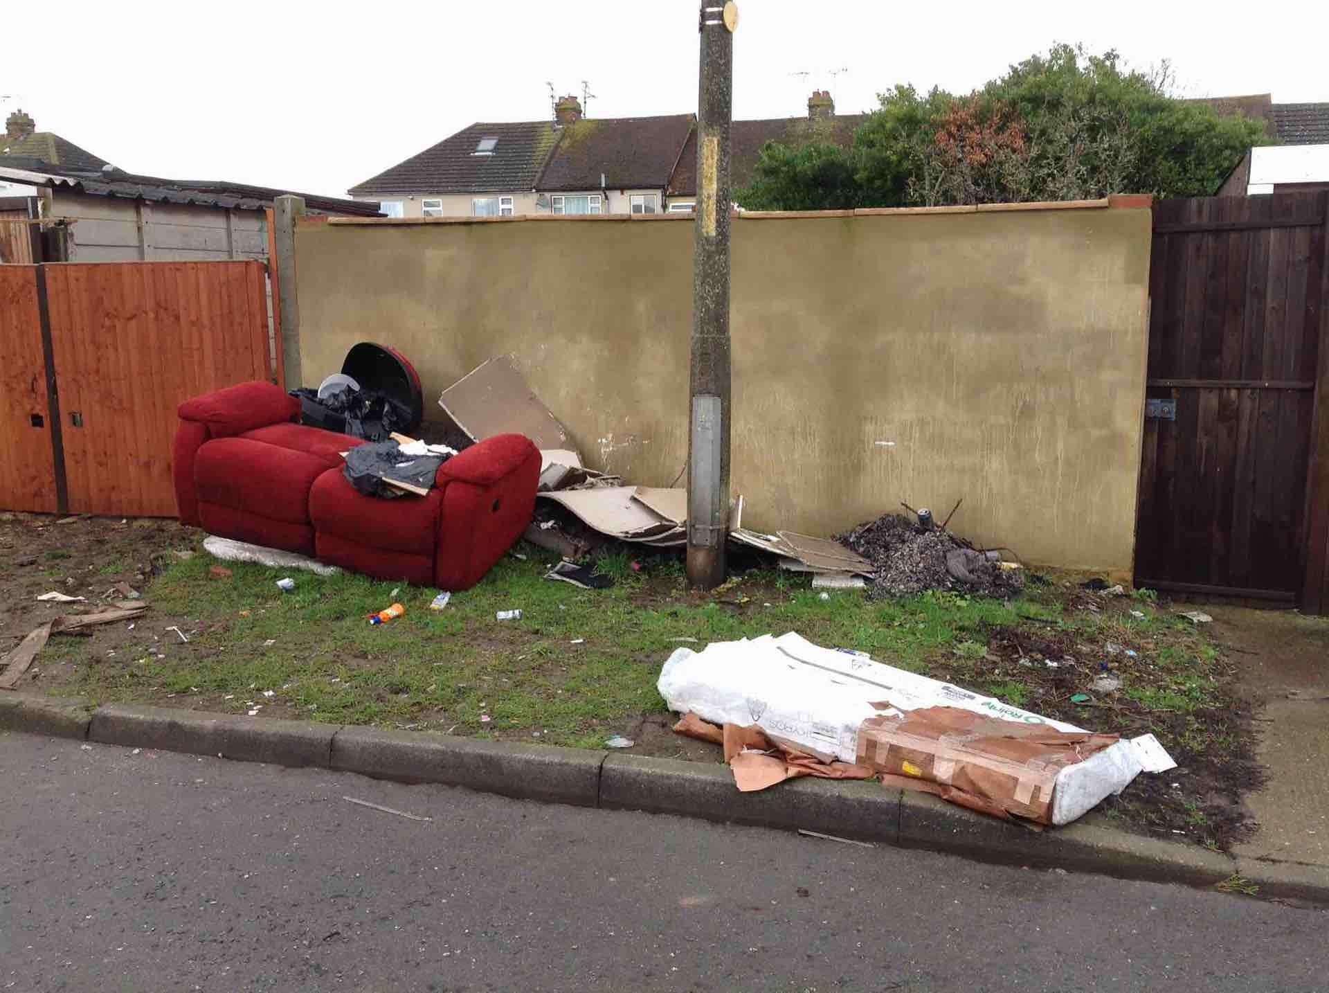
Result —
[{"label": "brown tiled roof section between the chimney and the utility pole", "polygon": [[663,189],[692,130],[691,114],[582,118],[562,137],[538,190]]}]

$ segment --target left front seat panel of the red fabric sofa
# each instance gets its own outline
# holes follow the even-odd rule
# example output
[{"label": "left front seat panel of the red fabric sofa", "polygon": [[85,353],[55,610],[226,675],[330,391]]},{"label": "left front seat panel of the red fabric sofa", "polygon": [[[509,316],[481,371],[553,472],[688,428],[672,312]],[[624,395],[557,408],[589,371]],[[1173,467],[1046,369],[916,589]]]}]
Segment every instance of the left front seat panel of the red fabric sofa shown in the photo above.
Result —
[{"label": "left front seat panel of the red fabric sofa", "polygon": [[245,437],[215,439],[194,456],[199,504],[218,504],[288,524],[310,522],[310,487],[324,472],[327,463],[316,455]]}]

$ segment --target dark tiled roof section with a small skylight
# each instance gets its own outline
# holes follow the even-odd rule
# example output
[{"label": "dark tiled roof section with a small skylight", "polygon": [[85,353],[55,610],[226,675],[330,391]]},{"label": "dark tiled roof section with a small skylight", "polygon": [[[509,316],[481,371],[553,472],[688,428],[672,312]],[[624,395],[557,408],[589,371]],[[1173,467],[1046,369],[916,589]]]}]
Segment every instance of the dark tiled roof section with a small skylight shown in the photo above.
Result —
[{"label": "dark tiled roof section with a small skylight", "polygon": [[[352,197],[383,193],[530,190],[560,137],[549,121],[473,124],[437,145],[352,186]],[[488,154],[477,154],[494,138]]]}]

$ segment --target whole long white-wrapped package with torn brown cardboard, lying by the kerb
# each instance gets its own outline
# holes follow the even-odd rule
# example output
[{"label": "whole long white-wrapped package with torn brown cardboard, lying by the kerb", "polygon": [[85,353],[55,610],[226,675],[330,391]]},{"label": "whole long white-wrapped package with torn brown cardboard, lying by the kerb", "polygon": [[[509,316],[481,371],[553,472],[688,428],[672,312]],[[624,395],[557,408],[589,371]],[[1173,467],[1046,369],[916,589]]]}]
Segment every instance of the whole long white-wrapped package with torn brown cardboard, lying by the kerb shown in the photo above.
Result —
[{"label": "whole long white-wrapped package with torn brown cardboard, lying by the kerb", "polygon": [[[1158,748],[1152,735],[1144,736],[1148,742],[1094,735],[793,633],[714,642],[699,653],[678,649],[661,670],[658,689],[670,710],[714,724],[755,726],[823,762],[869,764],[890,786],[924,788],[958,803],[978,796],[965,806],[1050,824],[1067,824],[1120,792],[1148,766],[1144,750]],[[938,709],[989,720],[969,722],[966,728],[965,719],[934,713]],[[993,736],[1022,744],[1014,746],[1014,755],[975,746]],[[1037,747],[1030,751],[1030,746]],[[1049,762],[1049,750],[1059,756],[1055,762]],[[975,751],[983,758],[975,759]],[[921,763],[924,754],[932,759]],[[983,766],[990,758],[1011,763],[1021,758],[1015,764],[1026,767],[1023,778],[1009,767],[993,771],[991,762]],[[973,792],[975,779],[985,786]]]}]

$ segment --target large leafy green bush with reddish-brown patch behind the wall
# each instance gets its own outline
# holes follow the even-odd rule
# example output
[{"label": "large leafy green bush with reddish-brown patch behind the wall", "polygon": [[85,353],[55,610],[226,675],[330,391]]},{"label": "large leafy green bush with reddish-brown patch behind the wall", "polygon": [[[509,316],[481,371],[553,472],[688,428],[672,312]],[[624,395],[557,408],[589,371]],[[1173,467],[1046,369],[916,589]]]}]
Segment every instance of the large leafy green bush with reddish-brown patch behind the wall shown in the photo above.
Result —
[{"label": "large leafy green bush with reddish-brown patch behind the wall", "polygon": [[1116,52],[1057,45],[956,97],[896,86],[849,149],[768,144],[739,194],[751,209],[1212,194],[1263,122],[1170,96],[1167,66],[1127,70]]}]

